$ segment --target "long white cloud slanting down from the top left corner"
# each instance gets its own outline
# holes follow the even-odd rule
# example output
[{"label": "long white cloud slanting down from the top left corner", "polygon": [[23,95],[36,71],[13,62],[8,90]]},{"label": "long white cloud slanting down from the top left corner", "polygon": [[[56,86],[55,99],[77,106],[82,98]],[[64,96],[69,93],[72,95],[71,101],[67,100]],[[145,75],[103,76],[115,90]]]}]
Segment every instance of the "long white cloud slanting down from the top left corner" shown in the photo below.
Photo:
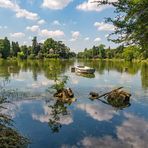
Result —
[{"label": "long white cloud slanting down from the top left corner", "polygon": [[38,14],[33,13],[30,11],[27,11],[26,9],[20,8],[20,6],[16,3],[13,3],[10,0],[0,0],[0,7],[1,8],[7,8],[14,12],[16,12],[16,17],[18,18],[26,18],[29,20],[37,20]]}]

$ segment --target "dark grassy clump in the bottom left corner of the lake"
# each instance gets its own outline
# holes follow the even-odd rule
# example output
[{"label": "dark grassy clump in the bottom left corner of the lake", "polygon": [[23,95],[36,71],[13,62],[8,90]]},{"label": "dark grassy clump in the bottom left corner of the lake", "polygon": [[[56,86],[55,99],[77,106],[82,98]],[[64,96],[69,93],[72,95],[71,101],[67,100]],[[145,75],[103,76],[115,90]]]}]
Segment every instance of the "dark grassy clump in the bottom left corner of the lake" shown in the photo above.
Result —
[{"label": "dark grassy clump in the bottom left corner of the lake", "polygon": [[29,143],[28,139],[18,133],[18,131],[13,128],[12,119],[2,113],[2,111],[6,109],[4,107],[5,103],[10,102],[0,96],[0,148],[26,148]]}]

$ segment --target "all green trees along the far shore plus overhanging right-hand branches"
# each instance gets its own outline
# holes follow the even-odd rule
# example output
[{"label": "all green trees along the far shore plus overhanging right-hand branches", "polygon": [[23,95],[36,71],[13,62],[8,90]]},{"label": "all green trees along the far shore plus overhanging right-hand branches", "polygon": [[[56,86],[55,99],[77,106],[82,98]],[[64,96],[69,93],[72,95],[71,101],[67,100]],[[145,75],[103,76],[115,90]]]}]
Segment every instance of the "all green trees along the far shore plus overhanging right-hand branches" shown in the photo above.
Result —
[{"label": "all green trees along the far shore plus overhanging right-hand branches", "polygon": [[[106,48],[100,44],[91,49],[79,52],[78,58],[100,59],[148,59],[148,1],[147,0],[98,0],[94,3],[110,5],[115,8],[114,18],[107,18],[106,22],[113,24],[113,33],[109,34],[108,40],[119,47]],[[72,58],[76,57],[62,41],[48,38],[44,43],[38,43],[37,37],[32,40],[32,45],[20,46],[18,42],[12,42],[7,37],[0,39],[0,58],[18,57],[19,59],[43,59],[43,58]]]}]

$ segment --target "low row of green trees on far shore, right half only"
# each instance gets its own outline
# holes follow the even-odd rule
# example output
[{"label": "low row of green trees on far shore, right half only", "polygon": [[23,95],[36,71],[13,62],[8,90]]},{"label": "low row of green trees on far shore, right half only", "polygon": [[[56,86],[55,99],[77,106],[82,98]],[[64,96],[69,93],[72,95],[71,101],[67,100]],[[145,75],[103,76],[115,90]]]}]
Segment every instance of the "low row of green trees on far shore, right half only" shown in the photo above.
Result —
[{"label": "low row of green trees on far shore, right half only", "polygon": [[141,51],[139,46],[120,46],[116,49],[105,48],[105,45],[100,44],[99,46],[93,46],[91,49],[84,49],[83,52],[79,52],[77,55],[78,58],[100,58],[100,59],[125,59],[132,61],[134,59],[147,59],[148,54],[145,51]]}]

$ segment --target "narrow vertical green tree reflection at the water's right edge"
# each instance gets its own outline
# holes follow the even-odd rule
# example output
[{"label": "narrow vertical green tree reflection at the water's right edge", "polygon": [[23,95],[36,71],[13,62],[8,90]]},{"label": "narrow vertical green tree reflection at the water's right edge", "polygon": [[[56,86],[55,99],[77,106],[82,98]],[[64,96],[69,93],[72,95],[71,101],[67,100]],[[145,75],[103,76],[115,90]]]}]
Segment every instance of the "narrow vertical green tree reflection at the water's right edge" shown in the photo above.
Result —
[{"label": "narrow vertical green tree reflection at the water's right edge", "polygon": [[148,64],[143,63],[141,67],[141,82],[144,89],[148,88]]}]

